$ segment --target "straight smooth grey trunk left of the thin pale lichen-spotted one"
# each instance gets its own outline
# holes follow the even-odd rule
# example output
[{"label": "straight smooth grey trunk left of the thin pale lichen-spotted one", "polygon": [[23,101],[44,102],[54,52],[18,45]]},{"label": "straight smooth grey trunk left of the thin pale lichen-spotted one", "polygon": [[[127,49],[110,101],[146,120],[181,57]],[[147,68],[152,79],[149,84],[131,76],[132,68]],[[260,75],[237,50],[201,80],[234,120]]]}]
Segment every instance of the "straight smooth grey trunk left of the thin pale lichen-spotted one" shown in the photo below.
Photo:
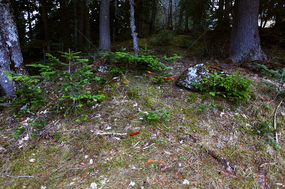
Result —
[{"label": "straight smooth grey trunk left of the thin pale lichen-spotted one", "polygon": [[111,52],[110,36],[110,3],[109,0],[101,0],[99,15],[99,48],[103,52]]}]

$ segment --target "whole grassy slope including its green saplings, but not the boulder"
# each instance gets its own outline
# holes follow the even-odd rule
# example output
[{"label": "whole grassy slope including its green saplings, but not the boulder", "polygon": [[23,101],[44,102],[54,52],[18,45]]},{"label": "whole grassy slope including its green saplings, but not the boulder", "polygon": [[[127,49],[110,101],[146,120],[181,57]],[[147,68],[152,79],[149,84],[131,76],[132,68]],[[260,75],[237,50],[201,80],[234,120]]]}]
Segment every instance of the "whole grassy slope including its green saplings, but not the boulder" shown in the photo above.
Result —
[{"label": "whole grassy slope including its green saplings, but not the boulder", "polygon": [[141,39],[138,57],[126,41],[8,72],[18,98],[1,99],[0,187],[283,188],[284,70],[225,67],[189,91],[179,75],[217,61],[185,38]]}]

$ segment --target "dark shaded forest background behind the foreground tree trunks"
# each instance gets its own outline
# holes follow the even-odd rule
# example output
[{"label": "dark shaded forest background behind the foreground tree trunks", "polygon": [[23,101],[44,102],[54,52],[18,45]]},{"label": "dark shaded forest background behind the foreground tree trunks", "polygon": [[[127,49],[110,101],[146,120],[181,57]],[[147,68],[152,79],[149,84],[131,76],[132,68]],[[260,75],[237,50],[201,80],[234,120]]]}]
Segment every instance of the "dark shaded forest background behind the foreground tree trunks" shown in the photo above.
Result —
[{"label": "dark shaded forest background behind the foreground tree trunks", "polygon": [[[53,54],[68,49],[92,54],[99,50],[98,46],[102,46],[100,37],[102,41],[107,40],[105,43],[110,40],[112,44],[131,38],[130,7],[127,1],[111,1],[106,3],[108,6],[104,6],[104,1],[11,3],[25,62],[42,59],[44,52]],[[167,29],[173,35],[200,36],[205,33],[205,36],[221,37],[222,42],[229,42],[233,5],[234,1],[137,1],[134,6],[136,33],[138,38],[143,39]],[[260,2],[259,33],[266,43],[284,43],[283,5],[283,1]],[[100,24],[100,14],[110,19]],[[104,34],[100,36],[99,29],[103,25],[110,26],[101,28]],[[104,38],[108,33],[109,38]],[[207,45],[208,51],[216,49],[215,42],[204,45]],[[228,58],[228,49],[224,49],[223,53]]]}]

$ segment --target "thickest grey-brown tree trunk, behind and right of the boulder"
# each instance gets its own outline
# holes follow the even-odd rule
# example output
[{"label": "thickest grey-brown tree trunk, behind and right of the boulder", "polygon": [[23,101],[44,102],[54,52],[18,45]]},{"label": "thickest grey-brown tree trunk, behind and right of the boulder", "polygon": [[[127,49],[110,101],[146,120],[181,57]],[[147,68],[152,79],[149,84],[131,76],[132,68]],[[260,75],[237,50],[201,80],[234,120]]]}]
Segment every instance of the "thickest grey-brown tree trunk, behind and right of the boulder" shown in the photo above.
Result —
[{"label": "thickest grey-brown tree trunk, behind and right of the boulder", "polygon": [[266,61],[258,33],[259,0],[236,0],[229,58],[233,63]]}]

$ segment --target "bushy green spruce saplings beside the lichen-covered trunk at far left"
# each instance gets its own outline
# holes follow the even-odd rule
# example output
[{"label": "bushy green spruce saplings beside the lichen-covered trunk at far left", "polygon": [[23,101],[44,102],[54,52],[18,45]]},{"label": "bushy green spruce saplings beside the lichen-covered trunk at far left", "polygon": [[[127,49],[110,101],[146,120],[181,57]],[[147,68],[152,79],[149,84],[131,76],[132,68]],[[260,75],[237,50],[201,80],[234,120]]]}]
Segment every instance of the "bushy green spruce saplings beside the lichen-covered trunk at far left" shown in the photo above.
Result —
[{"label": "bushy green spruce saplings beside the lichen-covered trunk at far left", "polygon": [[22,76],[14,72],[6,72],[10,79],[15,80],[18,89],[17,99],[12,103],[13,109],[23,105],[38,106],[48,105],[53,110],[65,110],[66,115],[71,109],[81,108],[84,103],[92,104],[104,98],[104,95],[96,95],[87,87],[90,82],[100,80],[100,77],[90,71],[92,65],[83,65],[78,69],[70,69],[78,63],[87,62],[80,59],[78,53],[62,53],[67,63],[60,62],[50,54],[47,54],[49,62],[44,64],[27,65],[37,68],[39,76]]}]

